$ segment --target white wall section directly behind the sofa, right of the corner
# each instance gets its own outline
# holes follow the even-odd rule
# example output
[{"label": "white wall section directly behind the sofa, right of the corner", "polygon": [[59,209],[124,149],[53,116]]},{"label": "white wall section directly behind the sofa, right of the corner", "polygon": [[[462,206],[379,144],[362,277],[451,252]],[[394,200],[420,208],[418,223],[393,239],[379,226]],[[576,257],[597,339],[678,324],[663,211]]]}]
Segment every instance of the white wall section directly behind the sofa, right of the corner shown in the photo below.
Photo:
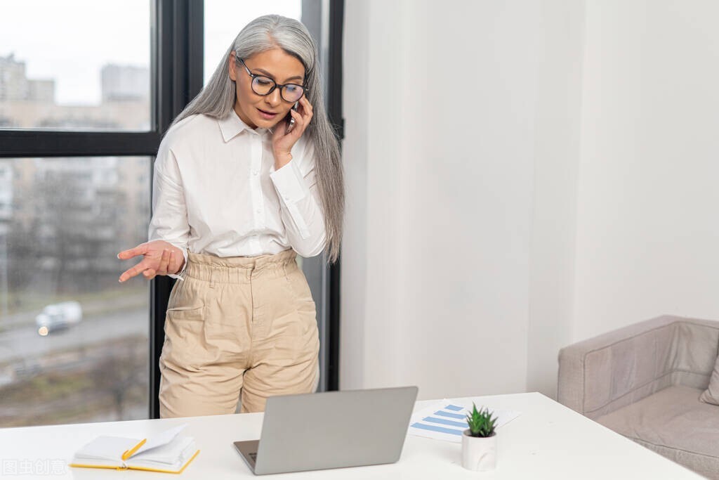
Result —
[{"label": "white wall section directly behind the sofa, right of the corner", "polygon": [[719,319],[719,2],[587,4],[576,340]]}]

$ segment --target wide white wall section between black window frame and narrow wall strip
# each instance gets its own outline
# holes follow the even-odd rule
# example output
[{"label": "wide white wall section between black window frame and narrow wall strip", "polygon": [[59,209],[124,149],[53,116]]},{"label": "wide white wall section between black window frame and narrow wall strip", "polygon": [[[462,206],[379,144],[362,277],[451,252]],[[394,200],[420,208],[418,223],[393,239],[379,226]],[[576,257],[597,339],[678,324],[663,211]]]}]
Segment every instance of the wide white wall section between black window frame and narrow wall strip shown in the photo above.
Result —
[{"label": "wide white wall section between black window frame and narrow wall strip", "polygon": [[345,15],[342,388],[523,391],[539,9]]}]

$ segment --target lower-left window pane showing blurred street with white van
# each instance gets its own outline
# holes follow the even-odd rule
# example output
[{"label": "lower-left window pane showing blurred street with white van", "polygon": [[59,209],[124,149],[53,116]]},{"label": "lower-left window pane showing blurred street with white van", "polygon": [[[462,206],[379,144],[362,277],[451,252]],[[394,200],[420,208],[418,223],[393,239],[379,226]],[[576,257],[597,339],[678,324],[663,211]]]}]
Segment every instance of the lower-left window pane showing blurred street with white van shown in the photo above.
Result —
[{"label": "lower-left window pane showing blurred street with white van", "polygon": [[0,158],[0,426],[147,418],[149,157]]}]

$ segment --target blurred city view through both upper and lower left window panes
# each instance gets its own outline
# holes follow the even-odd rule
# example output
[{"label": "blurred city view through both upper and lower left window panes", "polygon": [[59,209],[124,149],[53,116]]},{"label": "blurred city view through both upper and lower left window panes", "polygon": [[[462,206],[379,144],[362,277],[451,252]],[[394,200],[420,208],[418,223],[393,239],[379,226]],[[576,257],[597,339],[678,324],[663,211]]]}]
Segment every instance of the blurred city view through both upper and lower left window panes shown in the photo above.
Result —
[{"label": "blurred city view through both upper and lower left window panes", "polygon": [[[150,0],[0,8],[0,128],[150,130]],[[0,427],[147,418],[151,160],[0,158]]]}]

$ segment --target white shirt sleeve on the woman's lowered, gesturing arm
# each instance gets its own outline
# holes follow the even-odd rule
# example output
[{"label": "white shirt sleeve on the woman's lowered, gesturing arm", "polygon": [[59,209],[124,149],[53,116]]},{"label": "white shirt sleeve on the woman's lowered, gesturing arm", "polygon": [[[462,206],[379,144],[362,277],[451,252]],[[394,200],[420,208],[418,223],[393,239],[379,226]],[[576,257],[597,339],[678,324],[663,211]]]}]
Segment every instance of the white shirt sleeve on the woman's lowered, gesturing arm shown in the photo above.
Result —
[{"label": "white shirt sleeve on the woman's lowered, gesturing arm", "polygon": [[148,241],[165,240],[182,250],[185,258],[182,270],[168,274],[173,279],[184,280],[187,268],[188,238],[190,226],[187,204],[177,158],[167,145],[160,145],[155,158],[152,177],[152,219],[147,230]]}]

